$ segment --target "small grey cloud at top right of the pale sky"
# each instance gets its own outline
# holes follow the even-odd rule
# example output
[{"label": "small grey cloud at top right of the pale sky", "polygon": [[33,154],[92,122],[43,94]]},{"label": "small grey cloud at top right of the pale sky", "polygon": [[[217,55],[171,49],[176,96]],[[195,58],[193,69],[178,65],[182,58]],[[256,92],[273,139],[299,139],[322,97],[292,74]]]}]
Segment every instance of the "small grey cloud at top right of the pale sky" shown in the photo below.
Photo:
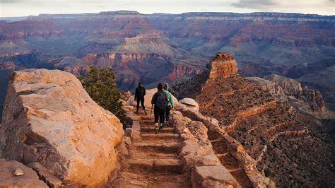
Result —
[{"label": "small grey cloud at top right of the pale sky", "polygon": [[[334,1],[334,0],[330,0]],[[237,8],[250,8],[260,11],[267,11],[273,6],[278,6],[279,3],[276,0],[239,0],[237,3],[231,4],[231,6]]]}]

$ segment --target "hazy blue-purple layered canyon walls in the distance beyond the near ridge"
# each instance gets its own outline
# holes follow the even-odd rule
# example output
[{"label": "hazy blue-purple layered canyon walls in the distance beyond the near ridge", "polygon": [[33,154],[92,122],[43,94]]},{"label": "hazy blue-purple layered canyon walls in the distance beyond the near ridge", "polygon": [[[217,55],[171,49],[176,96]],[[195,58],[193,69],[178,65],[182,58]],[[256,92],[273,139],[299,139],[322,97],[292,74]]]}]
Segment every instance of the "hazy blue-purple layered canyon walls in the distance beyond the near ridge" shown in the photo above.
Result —
[{"label": "hazy blue-purple layered canyon walls in the distance beyond the near ridge", "polygon": [[151,87],[194,76],[216,52],[230,52],[242,76],[298,79],[320,90],[333,109],[334,86],[317,75],[334,72],[334,23],[334,16],[298,13],[110,11],[1,18],[0,67],[78,75],[91,64],[111,66],[119,88],[134,90],[139,81]]}]

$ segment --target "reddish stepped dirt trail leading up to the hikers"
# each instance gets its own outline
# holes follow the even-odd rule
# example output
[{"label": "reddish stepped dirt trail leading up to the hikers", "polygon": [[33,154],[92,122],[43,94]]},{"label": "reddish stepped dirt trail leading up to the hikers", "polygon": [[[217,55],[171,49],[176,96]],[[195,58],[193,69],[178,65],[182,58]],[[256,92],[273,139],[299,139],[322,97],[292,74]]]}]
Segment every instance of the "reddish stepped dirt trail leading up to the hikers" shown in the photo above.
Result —
[{"label": "reddish stepped dirt trail leading up to the hikers", "polygon": [[155,134],[153,118],[141,117],[141,141],[133,141],[117,178],[108,187],[192,187],[178,159],[182,140],[173,127]]}]

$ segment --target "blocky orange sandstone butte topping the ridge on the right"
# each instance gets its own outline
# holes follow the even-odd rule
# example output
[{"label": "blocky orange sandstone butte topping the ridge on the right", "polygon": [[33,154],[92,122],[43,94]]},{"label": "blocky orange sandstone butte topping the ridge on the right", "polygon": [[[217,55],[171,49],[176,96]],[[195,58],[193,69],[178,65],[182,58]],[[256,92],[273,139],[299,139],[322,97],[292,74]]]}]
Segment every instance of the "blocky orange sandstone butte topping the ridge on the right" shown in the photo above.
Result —
[{"label": "blocky orange sandstone butte topping the ridge on the right", "polygon": [[209,79],[229,78],[237,74],[237,63],[232,54],[219,52],[208,64]]}]

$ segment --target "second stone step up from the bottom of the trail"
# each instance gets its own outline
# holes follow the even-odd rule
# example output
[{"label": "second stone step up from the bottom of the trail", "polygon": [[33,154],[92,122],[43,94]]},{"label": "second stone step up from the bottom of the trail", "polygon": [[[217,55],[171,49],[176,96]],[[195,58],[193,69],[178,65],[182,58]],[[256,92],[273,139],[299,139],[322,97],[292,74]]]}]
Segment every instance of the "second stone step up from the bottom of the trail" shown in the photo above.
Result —
[{"label": "second stone step up from the bottom of the trail", "polygon": [[182,144],[177,141],[146,141],[134,143],[133,146],[148,153],[179,153]]}]

